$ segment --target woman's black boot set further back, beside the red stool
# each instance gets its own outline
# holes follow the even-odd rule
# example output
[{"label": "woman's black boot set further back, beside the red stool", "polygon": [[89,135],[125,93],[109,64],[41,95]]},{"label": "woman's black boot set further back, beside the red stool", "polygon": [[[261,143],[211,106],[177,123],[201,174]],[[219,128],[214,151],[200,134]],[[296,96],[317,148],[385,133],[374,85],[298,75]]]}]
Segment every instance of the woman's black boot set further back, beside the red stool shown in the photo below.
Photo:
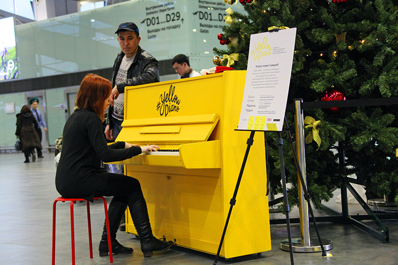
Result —
[{"label": "woman's black boot set further back, beside the red stool", "polygon": [[[110,242],[112,247],[112,253],[115,255],[130,254],[133,252],[132,248],[126,248],[116,240],[116,232],[119,229],[120,220],[123,217],[126,208],[127,204],[120,201],[114,202],[112,200],[109,204],[108,218],[109,218]],[[106,223],[103,225],[103,232],[98,250],[100,251],[101,257],[108,256],[109,248],[108,248],[108,237],[106,233]]]}]

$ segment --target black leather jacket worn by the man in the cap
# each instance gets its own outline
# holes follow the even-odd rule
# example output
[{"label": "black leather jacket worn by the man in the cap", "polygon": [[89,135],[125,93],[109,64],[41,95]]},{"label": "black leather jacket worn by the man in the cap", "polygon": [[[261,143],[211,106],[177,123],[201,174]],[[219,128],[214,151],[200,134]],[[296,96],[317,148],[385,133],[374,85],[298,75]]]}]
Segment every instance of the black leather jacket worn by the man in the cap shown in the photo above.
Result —
[{"label": "black leather jacket worn by the man in the cap", "polygon": [[[124,53],[120,52],[113,63],[112,87],[115,86],[117,71],[119,71],[123,56]],[[125,87],[139,86],[155,82],[159,82],[158,60],[138,46],[137,54],[127,72],[127,81],[125,83],[118,84],[117,90],[119,93],[124,93]],[[113,107],[109,106],[108,115],[106,117],[106,124],[109,124],[109,129],[112,129],[112,124],[109,123],[109,119],[112,118],[112,112]]]}]

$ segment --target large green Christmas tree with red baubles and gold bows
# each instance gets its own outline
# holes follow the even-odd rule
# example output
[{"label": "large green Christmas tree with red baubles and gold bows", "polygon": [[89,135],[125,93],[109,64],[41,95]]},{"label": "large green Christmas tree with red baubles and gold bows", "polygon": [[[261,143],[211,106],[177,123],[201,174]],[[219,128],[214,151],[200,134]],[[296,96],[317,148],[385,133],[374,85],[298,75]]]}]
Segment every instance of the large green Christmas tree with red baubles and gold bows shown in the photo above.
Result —
[{"label": "large green Christmas tree with red baubles and gold bows", "polygon": [[[242,1],[240,1],[242,3]],[[231,6],[233,9],[233,5]],[[234,40],[214,48],[216,56],[239,54],[231,67],[246,70],[250,35],[273,27],[296,27],[297,38],[288,103],[320,101],[333,86],[347,99],[398,96],[398,3],[393,0],[254,0],[244,1],[246,14],[228,12],[223,39]],[[274,29],[273,29],[274,30]],[[222,49],[226,48],[226,49]],[[293,113],[286,113],[293,125]],[[329,200],[343,177],[356,174],[369,193],[398,201],[398,107],[342,107],[305,110],[319,120],[321,143],[305,147],[308,191],[315,206]],[[312,128],[305,129],[308,134]],[[274,133],[267,133],[275,140]],[[279,152],[274,141],[270,159],[272,190],[281,192]],[[339,164],[335,143],[345,151]],[[343,148],[343,149],[342,149]],[[290,147],[284,146],[289,201],[298,204],[297,170]],[[350,167],[347,167],[350,166]]]}]

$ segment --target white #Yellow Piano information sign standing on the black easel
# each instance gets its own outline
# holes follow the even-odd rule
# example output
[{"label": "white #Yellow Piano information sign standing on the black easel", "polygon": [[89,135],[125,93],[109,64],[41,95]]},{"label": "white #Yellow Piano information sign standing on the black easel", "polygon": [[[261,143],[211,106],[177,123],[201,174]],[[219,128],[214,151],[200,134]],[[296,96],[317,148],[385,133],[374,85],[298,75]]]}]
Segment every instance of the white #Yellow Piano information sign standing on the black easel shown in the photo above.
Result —
[{"label": "white #Yellow Piano information sign standing on the black easel", "polygon": [[296,28],[250,37],[239,130],[282,131]]}]

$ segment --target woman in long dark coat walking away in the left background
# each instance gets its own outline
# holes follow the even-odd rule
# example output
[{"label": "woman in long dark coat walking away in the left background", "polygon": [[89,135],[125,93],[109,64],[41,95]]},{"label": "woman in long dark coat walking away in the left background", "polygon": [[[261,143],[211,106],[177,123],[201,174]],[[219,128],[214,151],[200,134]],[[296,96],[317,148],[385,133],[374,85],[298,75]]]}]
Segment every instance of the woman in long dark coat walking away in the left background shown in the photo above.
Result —
[{"label": "woman in long dark coat walking away in the left background", "polygon": [[21,112],[16,114],[15,135],[19,137],[22,143],[22,152],[25,154],[25,161],[29,163],[29,155],[32,155],[32,161],[35,162],[36,155],[34,150],[41,149],[39,135],[37,134],[38,124],[28,105],[21,108]]}]

